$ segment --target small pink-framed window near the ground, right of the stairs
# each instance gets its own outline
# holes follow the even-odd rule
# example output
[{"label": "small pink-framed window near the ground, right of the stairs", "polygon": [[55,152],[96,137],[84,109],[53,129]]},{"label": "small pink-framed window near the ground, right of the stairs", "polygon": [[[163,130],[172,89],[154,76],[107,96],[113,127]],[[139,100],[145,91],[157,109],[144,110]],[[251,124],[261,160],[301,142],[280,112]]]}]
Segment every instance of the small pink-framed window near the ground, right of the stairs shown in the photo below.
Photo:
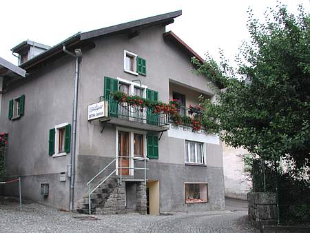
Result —
[{"label": "small pink-framed window near the ground, right of the stairs", "polygon": [[208,201],[207,183],[185,183],[185,203],[203,203]]}]

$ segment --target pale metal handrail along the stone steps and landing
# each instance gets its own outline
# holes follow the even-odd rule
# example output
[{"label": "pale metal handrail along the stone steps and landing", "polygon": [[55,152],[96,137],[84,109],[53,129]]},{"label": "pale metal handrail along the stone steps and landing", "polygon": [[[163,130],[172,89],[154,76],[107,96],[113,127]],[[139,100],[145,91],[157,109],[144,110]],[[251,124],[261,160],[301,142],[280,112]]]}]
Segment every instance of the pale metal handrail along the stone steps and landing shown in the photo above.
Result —
[{"label": "pale metal handrail along the stone steps and landing", "polygon": [[[110,167],[110,165],[112,165],[112,163],[114,163],[116,161],[116,159],[118,158],[126,158],[126,159],[133,159],[133,160],[143,160],[144,161],[144,168],[127,168],[127,167],[122,167],[119,166],[118,163],[116,165],[116,168],[105,177],[105,179],[103,179],[98,185],[95,185],[96,187],[91,188],[91,183],[92,181],[94,181],[94,179],[96,179],[100,174],[102,174],[107,168]],[[144,183],[146,184],[146,171],[149,170],[148,168],[146,168],[146,161],[149,161],[149,158],[147,157],[136,157],[136,156],[116,156],[115,159],[113,159],[108,165],[105,166],[105,168],[103,168],[103,170],[101,170],[98,174],[96,174],[96,176],[94,176],[90,181],[87,182],[87,186],[88,186],[88,209],[89,209],[89,214],[91,214],[92,212],[92,201],[90,199],[90,195],[97,189],[100,187],[100,185],[102,185],[103,183],[105,183],[105,181],[107,181],[107,179],[110,178],[110,176],[112,176],[112,174],[114,174],[114,172],[116,172],[116,170],[118,169],[133,169],[133,170],[144,170]],[[120,184],[122,183],[122,172],[120,174]]]}]

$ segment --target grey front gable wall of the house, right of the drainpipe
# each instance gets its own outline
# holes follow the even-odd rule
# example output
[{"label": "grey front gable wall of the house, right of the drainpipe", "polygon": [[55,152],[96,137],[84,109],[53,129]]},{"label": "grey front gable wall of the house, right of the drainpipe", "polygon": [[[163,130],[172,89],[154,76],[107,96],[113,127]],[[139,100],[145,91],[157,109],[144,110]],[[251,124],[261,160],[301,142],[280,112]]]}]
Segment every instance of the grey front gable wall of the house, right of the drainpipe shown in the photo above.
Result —
[{"label": "grey front gable wall of the house, right of the drainpipe", "polygon": [[[207,84],[209,80],[206,77],[191,72],[189,57],[163,39],[164,30],[162,26],[155,26],[142,30],[133,39],[128,39],[127,34],[97,39],[94,41],[96,48],[83,53],[79,86],[76,201],[87,192],[85,183],[96,174],[95,171],[104,168],[116,153],[115,125],[107,123],[101,134],[98,121],[87,121],[87,105],[98,102],[103,95],[105,76],[130,81],[141,79],[147,88],[158,91],[159,99],[165,102],[172,98],[172,88],[184,90],[184,86],[190,86],[186,90],[187,94],[191,94],[189,100],[192,103],[199,92],[209,94],[209,97],[214,94],[214,87]],[[123,71],[124,50],[146,59],[146,77],[136,77]],[[185,166],[184,154],[184,139],[168,137],[164,132],[159,141],[159,159],[149,161],[148,179],[160,180],[161,212],[223,209],[221,145],[207,144],[207,167]],[[135,177],[143,177],[141,173],[135,172]],[[209,203],[185,205],[184,182],[188,181],[209,183]]]}]

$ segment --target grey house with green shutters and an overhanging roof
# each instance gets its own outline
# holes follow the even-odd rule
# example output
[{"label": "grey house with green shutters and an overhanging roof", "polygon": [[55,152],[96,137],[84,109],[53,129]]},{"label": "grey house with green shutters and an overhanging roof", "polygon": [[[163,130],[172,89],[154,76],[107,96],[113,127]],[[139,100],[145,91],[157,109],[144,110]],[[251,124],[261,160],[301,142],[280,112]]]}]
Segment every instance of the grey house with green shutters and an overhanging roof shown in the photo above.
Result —
[{"label": "grey house with green shutters and an overhanging roof", "polygon": [[8,132],[7,175],[21,176],[24,198],[79,212],[91,203],[99,214],[223,210],[218,137],[111,97],[119,91],[185,107],[200,95],[214,99],[216,85],[191,71],[190,58],[203,59],[165,31],[180,15],[79,32],[53,47],[25,41],[12,49],[27,76],[3,77],[0,129]]}]

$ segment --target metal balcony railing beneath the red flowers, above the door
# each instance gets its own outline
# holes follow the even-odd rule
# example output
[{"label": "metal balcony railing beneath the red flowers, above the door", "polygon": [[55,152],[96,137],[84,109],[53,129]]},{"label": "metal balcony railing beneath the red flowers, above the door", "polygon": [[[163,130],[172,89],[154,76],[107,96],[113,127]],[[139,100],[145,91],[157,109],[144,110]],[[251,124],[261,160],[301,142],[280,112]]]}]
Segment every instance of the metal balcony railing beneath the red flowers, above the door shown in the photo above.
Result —
[{"label": "metal balcony railing beneath the red flowers, above the door", "polygon": [[100,97],[100,101],[107,101],[107,114],[109,118],[157,127],[169,127],[168,114],[154,113],[151,109],[139,108],[138,106],[128,105],[127,103],[118,103],[110,95]]}]

